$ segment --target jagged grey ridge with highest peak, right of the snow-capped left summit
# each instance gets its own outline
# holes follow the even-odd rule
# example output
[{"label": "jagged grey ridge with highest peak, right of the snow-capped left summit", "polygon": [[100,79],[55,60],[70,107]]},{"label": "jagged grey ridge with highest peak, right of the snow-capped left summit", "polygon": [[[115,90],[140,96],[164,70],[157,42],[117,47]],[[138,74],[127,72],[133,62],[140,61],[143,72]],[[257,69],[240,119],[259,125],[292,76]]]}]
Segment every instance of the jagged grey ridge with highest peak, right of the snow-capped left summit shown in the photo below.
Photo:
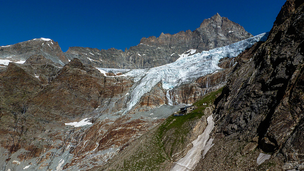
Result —
[{"label": "jagged grey ridge with highest peak, right of the snow-capped left summit", "polygon": [[194,31],[180,31],[173,35],[161,33],[158,38],[142,38],[139,45],[125,51],[114,48],[99,50],[71,47],[65,55],[69,59],[76,57],[82,63],[94,67],[144,69],[172,63],[190,49],[201,52],[249,37],[252,35],[242,26],[216,14],[210,19],[205,19]]}]

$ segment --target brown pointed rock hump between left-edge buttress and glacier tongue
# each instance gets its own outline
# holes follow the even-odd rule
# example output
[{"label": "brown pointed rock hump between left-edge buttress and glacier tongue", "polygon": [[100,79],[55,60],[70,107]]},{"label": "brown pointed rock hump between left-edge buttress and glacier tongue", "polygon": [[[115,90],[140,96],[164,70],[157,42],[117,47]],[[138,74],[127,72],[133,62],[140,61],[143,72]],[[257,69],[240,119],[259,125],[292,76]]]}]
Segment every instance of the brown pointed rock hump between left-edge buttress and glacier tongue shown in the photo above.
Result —
[{"label": "brown pointed rock hump between left-edge buttress and glacier tongue", "polygon": [[77,118],[90,113],[107,98],[120,98],[131,85],[126,77],[105,77],[97,69],[83,66],[75,58],[43,91],[29,100],[30,105],[35,106],[29,112],[33,115],[51,113],[50,119],[55,120]]}]

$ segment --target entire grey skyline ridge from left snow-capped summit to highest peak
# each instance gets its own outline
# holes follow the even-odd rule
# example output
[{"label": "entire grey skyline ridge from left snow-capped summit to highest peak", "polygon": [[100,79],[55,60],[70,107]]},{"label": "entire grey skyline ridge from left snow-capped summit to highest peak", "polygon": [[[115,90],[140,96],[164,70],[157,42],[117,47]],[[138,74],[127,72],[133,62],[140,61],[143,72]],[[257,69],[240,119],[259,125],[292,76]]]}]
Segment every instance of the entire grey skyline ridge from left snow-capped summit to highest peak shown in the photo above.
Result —
[{"label": "entire grey skyline ridge from left snow-capped summit to highest peak", "polygon": [[125,51],[114,48],[99,50],[71,47],[63,53],[57,42],[48,38],[38,38],[1,46],[0,59],[12,57],[13,60],[25,61],[31,55],[43,55],[62,66],[73,58],[78,58],[83,64],[93,67],[146,69],[175,62],[180,55],[190,49],[201,52],[227,46],[249,37],[252,35],[242,26],[216,14],[204,20],[194,31],[180,31],[172,35],[161,33],[157,38],[142,38],[137,46]]}]

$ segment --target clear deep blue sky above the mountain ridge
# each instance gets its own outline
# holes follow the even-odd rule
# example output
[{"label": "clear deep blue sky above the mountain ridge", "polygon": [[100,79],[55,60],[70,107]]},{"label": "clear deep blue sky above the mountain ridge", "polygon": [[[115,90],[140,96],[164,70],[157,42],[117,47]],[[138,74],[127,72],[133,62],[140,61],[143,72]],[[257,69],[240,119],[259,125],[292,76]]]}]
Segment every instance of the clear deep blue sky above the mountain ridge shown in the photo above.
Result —
[{"label": "clear deep blue sky above the mountain ridge", "polygon": [[0,46],[50,38],[69,47],[125,49],[142,37],[195,30],[217,12],[253,35],[286,0],[0,0]]}]

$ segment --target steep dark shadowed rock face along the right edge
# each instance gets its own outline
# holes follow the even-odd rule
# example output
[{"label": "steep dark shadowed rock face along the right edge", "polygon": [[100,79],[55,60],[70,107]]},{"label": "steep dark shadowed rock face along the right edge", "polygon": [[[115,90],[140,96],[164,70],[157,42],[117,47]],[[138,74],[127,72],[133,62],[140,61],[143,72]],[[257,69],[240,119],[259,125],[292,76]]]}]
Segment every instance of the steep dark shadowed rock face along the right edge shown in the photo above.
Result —
[{"label": "steep dark shadowed rock face along the right edge", "polygon": [[[304,146],[300,145],[304,141],[303,32],[304,3],[287,0],[268,40],[248,54],[252,60],[237,64],[217,99],[214,136],[222,137],[227,144],[235,141],[240,146],[246,145],[243,151],[241,149],[243,154],[251,145],[241,144],[252,143],[251,147],[256,145],[259,150],[272,153],[271,160],[277,160],[276,167],[291,162],[288,164],[297,168],[296,165],[304,161]],[[220,141],[214,150],[225,149],[227,144]],[[237,153],[238,149],[234,151]],[[231,154],[227,152],[227,156]],[[284,159],[280,158],[281,154]],[[218,164],[203,164],[212,160],[212,156],[209,157],[202,161],[198,170],[218,168]],[[250,163],[245,158],[238,166]],[[248,166],[252,166],[249,163]]]}]

